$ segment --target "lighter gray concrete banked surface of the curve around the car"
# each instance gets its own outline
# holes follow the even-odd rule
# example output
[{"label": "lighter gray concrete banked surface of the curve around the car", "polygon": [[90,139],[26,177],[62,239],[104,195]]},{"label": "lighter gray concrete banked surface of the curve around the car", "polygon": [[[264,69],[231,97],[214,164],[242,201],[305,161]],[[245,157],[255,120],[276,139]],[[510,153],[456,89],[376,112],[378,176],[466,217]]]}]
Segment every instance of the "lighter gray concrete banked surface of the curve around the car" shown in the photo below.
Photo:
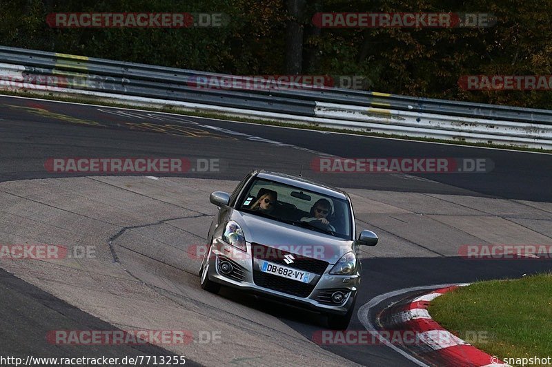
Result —
[{"label": "lighter gray concrete banked surface of the curve around the car", "polygon": [[[95,258],[2,259],[0,267],[121,329],[189,330],[194,343],[166,348],[206,366],[351,366],[231,292],[220,297],[199,288],[195,246],[206,241],[216,210],[208,194],[236,184],[146,177],[1,182],[0,244],[90,246]],[[455,256],[463,244],[552,244],[549,203],[347,191],[359,229],[381,238],[363,249],[365,258]],[[200,344],[200,332],[221,341]]]}]

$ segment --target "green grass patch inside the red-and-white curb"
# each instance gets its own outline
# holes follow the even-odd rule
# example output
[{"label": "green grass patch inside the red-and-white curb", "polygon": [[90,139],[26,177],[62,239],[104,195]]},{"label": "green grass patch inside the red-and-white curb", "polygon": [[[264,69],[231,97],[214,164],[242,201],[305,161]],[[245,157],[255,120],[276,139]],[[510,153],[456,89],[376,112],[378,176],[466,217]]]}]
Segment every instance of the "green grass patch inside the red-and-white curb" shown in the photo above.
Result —
[{"label": "green grass patch inside the red-and-white curb", "polygon": [[433,300],[441,326],[499,358],[552,354],[552,273],[460,287]]}]

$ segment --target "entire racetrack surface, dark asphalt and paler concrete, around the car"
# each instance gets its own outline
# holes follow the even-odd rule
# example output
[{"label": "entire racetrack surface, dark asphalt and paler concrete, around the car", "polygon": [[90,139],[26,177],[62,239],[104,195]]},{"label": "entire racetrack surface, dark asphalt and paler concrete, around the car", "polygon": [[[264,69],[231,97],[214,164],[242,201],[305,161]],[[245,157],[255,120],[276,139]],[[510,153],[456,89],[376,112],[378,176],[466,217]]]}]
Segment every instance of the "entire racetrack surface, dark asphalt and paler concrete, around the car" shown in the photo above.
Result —
[{"label": "entire racetrack surface, dark asphalt and paler concrete, around the car", "polygon": [[[0,244],[95,249],[95,258],[0,259],[2,355],[186,355],[206,366],[415,366],[382,345],[318,345],[318,315],[199,288],[197,247],[216,207],[250,170],[344,188],[362,249],[357,308],[377,295],[549,271],[546,259],[473,260],[466,244],[552,244],[552,156],[0,97]],[[54,172],[54,158],[185,158],[184,173]],[[484,159],[478,173],[321,173],[319,158]],[[205,169],[215,162],[216,169]],[[207,165],[208,167],[208,165]],[[71,252],[72,251],[72,252]],[[382,302],[353,316],[364,330]],[[59,346],[52,330],[186,330],[189,344]]]}]

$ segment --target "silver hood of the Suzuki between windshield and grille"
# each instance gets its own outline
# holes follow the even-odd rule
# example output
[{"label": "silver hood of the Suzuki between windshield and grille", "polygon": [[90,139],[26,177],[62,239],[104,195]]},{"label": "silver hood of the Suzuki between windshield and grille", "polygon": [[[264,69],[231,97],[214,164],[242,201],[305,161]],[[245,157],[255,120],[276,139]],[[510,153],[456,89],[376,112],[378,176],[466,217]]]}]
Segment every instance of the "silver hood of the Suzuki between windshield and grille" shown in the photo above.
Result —
[{"label": "silver hood of the Suzuki between windshield and grille", "polygon": [[353,251],[353,241],[317,231],[277,222],[255,214],[234,211],[235,220],[249,243],[264,244],[290,253],[335,264],[345,253]]}]

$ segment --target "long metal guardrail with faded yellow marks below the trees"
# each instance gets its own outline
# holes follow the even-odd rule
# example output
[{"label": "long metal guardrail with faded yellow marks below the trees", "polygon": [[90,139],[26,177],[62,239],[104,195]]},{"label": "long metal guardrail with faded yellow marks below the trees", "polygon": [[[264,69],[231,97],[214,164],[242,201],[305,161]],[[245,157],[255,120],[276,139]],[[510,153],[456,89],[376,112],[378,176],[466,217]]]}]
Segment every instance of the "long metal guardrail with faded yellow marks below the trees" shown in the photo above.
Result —
[{"label": "long metal guardrail with faded yellow marks below the trees", "polygon": [[[118,98],[271,120],[405,136],[552,149],[552,111],[415,98],[338,88],[259,90],[197,87],[199,77],[230,77],[0,46],[0,88]],[[241,76],[231,76],[239,80]]]}]

